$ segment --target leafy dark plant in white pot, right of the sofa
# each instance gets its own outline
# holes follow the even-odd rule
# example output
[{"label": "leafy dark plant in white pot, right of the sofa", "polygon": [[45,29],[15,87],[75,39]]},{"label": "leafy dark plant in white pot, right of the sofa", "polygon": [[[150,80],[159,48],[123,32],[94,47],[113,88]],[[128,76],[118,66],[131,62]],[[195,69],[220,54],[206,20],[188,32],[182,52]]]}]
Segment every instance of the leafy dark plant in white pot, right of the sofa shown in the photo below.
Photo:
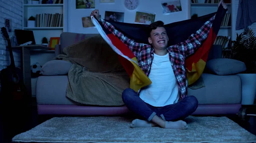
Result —
[{"label": "leafy dark plant in white pot, right of the sofa", "polygon": [[246,71],[237,74],[242,84],[242,104],[253,104],[256,95],[256,36],[251,28],[244,28],[241,34],[236,34],[236,40],[229,41],[227,37],[220,36],[222,40],[228,40],[231,59],[244,62]]}]

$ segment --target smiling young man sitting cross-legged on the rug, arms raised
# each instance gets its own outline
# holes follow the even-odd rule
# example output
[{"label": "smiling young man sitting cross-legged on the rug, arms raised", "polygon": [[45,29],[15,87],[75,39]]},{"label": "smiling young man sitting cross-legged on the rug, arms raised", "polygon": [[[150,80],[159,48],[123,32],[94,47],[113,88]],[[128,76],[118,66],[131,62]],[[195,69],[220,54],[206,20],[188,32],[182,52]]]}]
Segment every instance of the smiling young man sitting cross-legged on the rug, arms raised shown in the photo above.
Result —
[{"label": "smiling young man sitting cross-legged on the rug, arms raised", "polygon": [[[220,4],[227,8],[222,0],[218,6]],[[195,112],[198,100],[195,96],[187,96],[185,59],[195,53],[207,38],[215,16],[187,40],[169,47],[169,38],[162,21],[149,25],[149,44],[143,44],[129,39],[109,22],[100,19],[99,10],[92,11],[91,16],[96,16],[106,29],[130,48],[137,57],[138,65],[152,81],[151,85],[137,93],[130,88],[122,93],[126,107],[144,119],[135,119],[131,127],[160,126],[166,129],[187,129],[187,124],[182,119]]]}]

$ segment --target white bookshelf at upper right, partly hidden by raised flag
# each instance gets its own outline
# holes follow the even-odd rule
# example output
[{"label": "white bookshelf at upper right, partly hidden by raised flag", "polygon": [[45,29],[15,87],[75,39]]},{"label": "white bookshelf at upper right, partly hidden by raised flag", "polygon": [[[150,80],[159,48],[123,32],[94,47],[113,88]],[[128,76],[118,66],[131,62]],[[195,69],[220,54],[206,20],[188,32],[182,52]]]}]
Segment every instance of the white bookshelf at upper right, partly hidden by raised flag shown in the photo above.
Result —
[{"label": "white bookshelf at upper right, partly hidden by raised flag", "polygon": [[[220,0],[190,0],[190,14],[198,14],[198,17],[204,16],[218,10],[218,2]],[[217,36],[227,36],[232,39],[232,0],[224,0],[227,5],[227,13],[221,23],[221,28]],[[215,40],[214,44],[220,44],[223,48],[228,45],[223,41]]]}]

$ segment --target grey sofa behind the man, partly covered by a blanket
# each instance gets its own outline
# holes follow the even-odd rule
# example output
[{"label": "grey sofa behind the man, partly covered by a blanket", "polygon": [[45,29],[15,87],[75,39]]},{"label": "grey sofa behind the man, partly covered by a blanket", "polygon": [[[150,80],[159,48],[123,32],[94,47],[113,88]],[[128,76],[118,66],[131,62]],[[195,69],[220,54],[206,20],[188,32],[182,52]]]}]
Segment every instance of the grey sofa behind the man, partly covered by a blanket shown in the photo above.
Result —
[{"label": "grey sofa behind the man, partly covered by a blanket", "polygon": [[[60,45],[55,46],[55,56],[63,53],[63,49],[79,42],[87,37],[97,34],[77,34],[64,32],[61,34]],[[221,45],[213,45],[209,52],[208,60],[213,61],[212,65],[207,65],[214,72],[205,71],[202,74],[205,87],[199,89],[188,88],[188,95],[194,95],[198,99],[198,108],[192,115],[228,115],[236,114],[241,108],[242,87],[241,79],[233,73],[239,71],[227,71],[221,68],[230,68],[232,64],[219,64],[217,62],[222,59]],[[51,62],[51,61],[49,61]],[[232,62],[232,61],[231,61]],[[230,63],[231,63],[230,62]],[[223,62],[222,62],[223,63]],[[47,63],[46,63],[47,64]],[[208,64],[208,62],[207,62]],[[237,64],[244,68],[244,65]],[[51,67],[52,66],[52,67]],[[36,82],[36,101],[38,107],[38,115],[127,115],[131,114],[129,109],[124,106],[118,107],[100,107],[80,104],[66,97],[66,89],[68,84],[67,72],[70,65],[56,69],[54,65],[47,64],[42,67],[44,73],[38,77]],[[215,66],[215,67],[214,67]],[[234,66],[234,65],[233,65]],[[47,71],[49,70],[49,71]],[[52,74],[51,70],[58,70],[58,74]],[[212,70],[212,71],[213,71]],[[234,67],[232,68],[234,70]],[[244,69],[242,69],[244,70]],[[48,72],[48,73],[47,73]],[[61,73],[63,72],[63,73]],[[46,74],[47,73],[47,74]],[[53,72],[54,73],[54,72]]]}]

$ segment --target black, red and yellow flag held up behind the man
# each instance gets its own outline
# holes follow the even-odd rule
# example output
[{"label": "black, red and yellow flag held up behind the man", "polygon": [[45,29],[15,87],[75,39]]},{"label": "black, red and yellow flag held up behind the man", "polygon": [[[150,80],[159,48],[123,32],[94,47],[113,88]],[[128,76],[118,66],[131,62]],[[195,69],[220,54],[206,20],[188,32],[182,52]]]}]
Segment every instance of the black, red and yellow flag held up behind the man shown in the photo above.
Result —
[{"label": "black, red and yellow flag held up behind the man", "polygon": [[[165,25],[167,35],[170,39],[168,46],[175,45],[186,40],[191,34],[195,34],[195,32],[201,28],[205,22],[207,22],[212,16],[214,16],[214,14],[216,14],[207,39],[204,40],[201,47],[198,48],[198,50],[192,56],[189,56],[185,60],[188,85],[197,81],[203,73],[209,50],[217,37],[222,19],[226,12],[227,9],[219,6],[218,11],[215,13],[201,16],[196,19],[183,20]],[[172,17],[170,16],[170,18]],[[99,34],[101,34],[103,39],[105,39],[111,48],[119,55],[121,64],[131,78],[130,88],[137,92],[140,88],[151,84],[151,80],[138,66],[137,58],[134,56],[131,50],[124,43],[122,43],[118,37],[116,37],[107,28],[105,28],[102,22],[98,21],[93,16],[91,17],[91,20],[99,31]],[[148,43],[148,25],[114,22],[110,20],[105,21],[111,23],[116,28],[116,30],[122,32],[122,34],[128,38],[133,39],[136,42],[145,44]]]}]

